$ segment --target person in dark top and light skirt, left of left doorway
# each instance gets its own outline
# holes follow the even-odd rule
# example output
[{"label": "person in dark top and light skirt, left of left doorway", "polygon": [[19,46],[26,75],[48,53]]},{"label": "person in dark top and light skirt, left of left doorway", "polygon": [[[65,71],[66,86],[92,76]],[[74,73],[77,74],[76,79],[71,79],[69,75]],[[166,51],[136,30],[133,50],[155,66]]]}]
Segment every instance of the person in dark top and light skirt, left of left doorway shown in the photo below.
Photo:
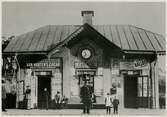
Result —
[{"label": "person in dark top and light skirt, left of left doorway", "polygon": [[26,92],[25,92],[25,98],[26,98],[26,109],[31,109],[31,89],[30,86],[27,86]]}]

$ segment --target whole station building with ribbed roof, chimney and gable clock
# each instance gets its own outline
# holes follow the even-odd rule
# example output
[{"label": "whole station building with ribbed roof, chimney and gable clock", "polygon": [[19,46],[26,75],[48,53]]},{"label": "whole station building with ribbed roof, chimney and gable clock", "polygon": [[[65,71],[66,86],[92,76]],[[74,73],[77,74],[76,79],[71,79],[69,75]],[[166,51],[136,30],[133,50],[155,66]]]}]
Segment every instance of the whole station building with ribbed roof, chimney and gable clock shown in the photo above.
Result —
[{"label": "whole station building with ribbed roof, chimney and gable clock", "polygon": [[93,11],[82,11],[83,25],[48,25],[22,34],[4,54],[16,57],[17,107],[31,87],[31,107],[42,108],[43,91],[50,107],[60,91],[70,105],[81,104],[80,88],[88,81],[104,105],[107,93],[122,108],[158,108],[158,56],[165,38],[132,25],[93,25]]}]

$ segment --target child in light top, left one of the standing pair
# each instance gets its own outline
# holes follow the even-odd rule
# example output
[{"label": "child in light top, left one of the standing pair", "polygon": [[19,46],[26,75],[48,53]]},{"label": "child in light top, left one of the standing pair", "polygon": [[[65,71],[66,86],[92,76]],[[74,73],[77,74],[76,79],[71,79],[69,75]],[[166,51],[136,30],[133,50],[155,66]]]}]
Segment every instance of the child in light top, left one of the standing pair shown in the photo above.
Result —
[{"label": "child in light top, left one of the standing pair", "polygon": [[112,107],[112,98],[109,93],[107,93],[107,96],[105,98],[105,105],[106,105],[106,114],[110,114]]}]

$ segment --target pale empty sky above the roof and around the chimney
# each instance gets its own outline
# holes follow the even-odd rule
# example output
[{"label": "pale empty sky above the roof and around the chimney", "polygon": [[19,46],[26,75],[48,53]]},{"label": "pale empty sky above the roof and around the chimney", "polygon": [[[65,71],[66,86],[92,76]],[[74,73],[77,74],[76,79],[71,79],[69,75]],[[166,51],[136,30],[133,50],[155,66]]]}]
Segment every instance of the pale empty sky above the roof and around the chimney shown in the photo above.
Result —
[{"label": "pale empty sky above the roof and around the chimney", "polygon": [[2,36],[45,25],[82,25],[82,10],[94,11],[94,25],[130,24],[165,36],[163,2],[3,2]]}]

